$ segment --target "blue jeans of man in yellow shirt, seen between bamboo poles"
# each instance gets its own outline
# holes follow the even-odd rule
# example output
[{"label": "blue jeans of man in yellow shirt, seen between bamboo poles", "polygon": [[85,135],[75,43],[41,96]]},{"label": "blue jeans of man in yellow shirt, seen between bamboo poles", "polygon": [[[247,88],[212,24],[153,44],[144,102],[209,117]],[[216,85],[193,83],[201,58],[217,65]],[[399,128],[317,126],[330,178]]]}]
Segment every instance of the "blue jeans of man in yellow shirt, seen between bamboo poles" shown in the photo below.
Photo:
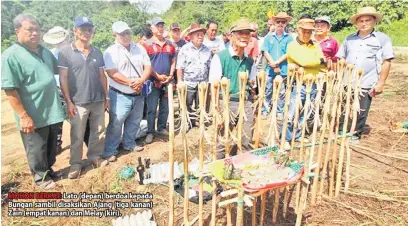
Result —
[{"label": "blue jeans of man in yellow shirt, seen between bamboo poles", "polygon": [[[312,86],[312,91],[310,93],[310,101],[313,102],[316,98],[316,84],[313,84]],[[292,136],[293,133],[295,133],[295,139],[298,140],[300,139],[301,135],[302,135],[302,125],[303,125],[303,121],[304,121],[304,111],[302,111],[302,109],[299,109],[300,114],[299,114],[299,122],[297,124],[297,128],[293,128],[293,120],[295,118],[295,103],[296,103],[296,85],[293,85],[293,90],[292,90],[292,94],[290,96],[290,104],[289,104],[289,112],[288,112],[288,127],[286,129],[286,141],[291,141],[292,140]],[[300,90],[300,100],[302,102],[302,106],[305,106],[305,102],[306,102],[306,86],[302,85],[302,88]],[[311,108],[311,106],[309,106],[308,112],[307,114],[310,114],[311,111],[314,111],[313,107]],[[313,120],[313,119],[312,119]],[[282,128],[281,128],[282,130]],[[296,130],[294,132],[294,130]],[[282,131],[281,131],[282,132]]]}]

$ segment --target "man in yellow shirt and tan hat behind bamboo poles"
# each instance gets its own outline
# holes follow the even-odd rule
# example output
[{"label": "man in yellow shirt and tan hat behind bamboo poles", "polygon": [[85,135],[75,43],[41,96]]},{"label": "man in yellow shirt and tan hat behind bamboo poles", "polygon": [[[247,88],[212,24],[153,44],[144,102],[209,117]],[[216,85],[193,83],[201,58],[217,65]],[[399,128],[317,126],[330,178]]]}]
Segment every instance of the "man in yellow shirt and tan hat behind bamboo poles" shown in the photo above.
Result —
[{"label": "man in yellow shirt and tan hat behind bamboo poles", "polygon": [[[310,17],[303,16],[297,23],[297,38],[296,41],[290,43],[287,49],[288,64],[293,63],[299,67],[305,69],[305,75],[313,74],[317,75],[319,72],[325,72],[326,60],[323,55],[322,50],[319,45],[314,43],[312,38],[312,33],[315,30],[315,21]],[[301,89],[301,101],[304,104],[306,99],[306,87],[302,86]],[[316,96],[316,85],[313,85],[311,98],[312,101]],[[301,125],[303,123],[303,117],[305,113],[302,113],[299,118],[299,127],[293,128],[293,119],[295,116],[295,104],[296,104],[296,89],[293,89],[289,105],[289,121],[288,129],[286,131],[286,143],[285,149],[290,148],[289,141],[291,141],[292,136],[299,141],[301,136]],[[293,134],[295,133],[295,134]],[[306,141],[307,142],[307,141]]]}]

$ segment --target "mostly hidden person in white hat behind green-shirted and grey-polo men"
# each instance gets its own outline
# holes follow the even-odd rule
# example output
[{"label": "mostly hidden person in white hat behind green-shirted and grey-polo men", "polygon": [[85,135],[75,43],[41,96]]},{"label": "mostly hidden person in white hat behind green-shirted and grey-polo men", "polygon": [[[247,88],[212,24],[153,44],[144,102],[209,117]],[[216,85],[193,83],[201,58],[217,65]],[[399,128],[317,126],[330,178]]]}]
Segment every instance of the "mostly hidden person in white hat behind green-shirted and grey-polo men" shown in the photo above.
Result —
[{"label": "mostly hidden person in white hat behind green-shirted and grey-polo men", "polygon": [[[43,40],[45,43],[55,46],[54,48],[50,49],[52,54],[54,54],[55,58],[58,59],[58,55],[60,50],[69,44],[69,34],[68,31],[62,27],[53,27],[47,33],[44,34]],[[54,75],[55,81],[57,82],[58,91],[61,97],[62,105],[65,106],[64,96],[62,95],[60,82],[59,82],[59,74],[56,73]],[[58,136],[57,136],[57,153],[62,152],[62,127],[63,122],[59,125]]]}]

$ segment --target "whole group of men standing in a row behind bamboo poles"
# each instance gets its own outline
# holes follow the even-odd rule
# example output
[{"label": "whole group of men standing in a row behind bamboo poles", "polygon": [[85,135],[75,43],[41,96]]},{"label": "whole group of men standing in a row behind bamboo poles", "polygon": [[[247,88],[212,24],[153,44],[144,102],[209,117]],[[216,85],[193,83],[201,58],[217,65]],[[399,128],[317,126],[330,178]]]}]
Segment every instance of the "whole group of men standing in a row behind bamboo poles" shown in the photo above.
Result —
[{"label": "whole group of men standing in a row behind bamboo poles", "polygon": [[[366,110],[360,113],[358,133],[355,134],[358,138],[367,119],[373,93],[383,91],[394,57],[389,37],[374,30],[374,25],[381,18],[382,15],[372,7],[359,9],[350,18],[359,31],[348,36],[340,47],[329,36],[331,23],[327,16],[315,19],[307,15],[300,17],[297,35],[293,38],[285,32],[285,27],[293,18],[280,12],[271,18],[270,32],[263,37],[260,45],[257,25],[245,19],[233,24],[227,34],[227,43],[216,36],[218,24],[214,21],[209,22],[206,28],[193,23],[182,35],[180,26],[173,23],[172,37],[167,40],[164,37],[165,22],[155,17],[151,21],[153,37],[144,39],[142,45],[132,42],[131,28],[125,22],[118,21],[112,25],[115,42],[102,54],[90,44],[95,32],[92,20],[81,16],[74,21],[74,42],[67,41],[68,32],[62,28],[53,29],[44,36],[44,41],[57,45],[53,55],[40,45],[37,20],[31,15],[20,14],[13,21],[17,42],[2,56],[2,89],[16,112],[34,180],[45,189],[54,187],[53,179],[61,177],[52,169],[58,144],[61,143],[62,122],[66,117],[61,102],[65,102],[71,124],[68,178],[74,179],[81,173],[84,141],[88,145],[88,161],[94,167],[115,161],[120,143],[125,151],[143,150],[135,138],[140,129],[145,101],[148,122],[145,143],[151,143],[155,134],[167,136],[168,85],[180,81],[187,84],[187,105],[189,113],[193,115],[198,107],[198,83],[213,83],[226,77],[231,84],[230,100],[222,101],[229,101],[231,111],[238,117],[238,72],[248,71],[249,80],[253,81],[248,84],[254,84],[259,70],[265,70],[269,79],[263,114],[267,115],[272,82],[277,76],[287,76],[287,65],[290,63],[303,67],[306,74],[314,75],[328,69],[336,71],[335,62],[339,58],[364,69],[362,88],[370,92],[361,100],[361,109]],[[257,67],[261,62],[265,62],[265,68]],[[54,79],[56,74],[59,75],[63,99],[58,94]],[[305,87],[301,92],[304,101]],[[279,117],[283,114],[285,87],[280,93]],[[245,102],[247,120],[244,131],[249,137],[243,138],[246,150],[250,150],[252,137],[252,94],[248,92]],[[292,136],[300,138],[300,131],[293,128],[296,93],[292,92],[292,95],[287,141]],[[109,112],[106,135],[105,111]],[[302,123],[302,118],[300,120]],[[218,157],[223,156],[221,148]]]}]

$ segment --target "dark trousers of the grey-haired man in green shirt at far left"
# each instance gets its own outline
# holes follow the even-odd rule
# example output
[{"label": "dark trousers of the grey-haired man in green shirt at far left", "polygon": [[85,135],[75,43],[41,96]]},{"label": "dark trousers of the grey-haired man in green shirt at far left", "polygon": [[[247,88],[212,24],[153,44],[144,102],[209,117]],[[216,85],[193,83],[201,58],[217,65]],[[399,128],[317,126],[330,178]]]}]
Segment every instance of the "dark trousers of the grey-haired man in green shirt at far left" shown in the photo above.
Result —
[{"label": "dark trousers of the grey-haired man in green shirt at far left", "polygon": [[39,185],[42,180],[50,180],[51,166],[55,163],[57,152],[58,128],[61,123],[34,130],[34,133],[20,131],[27,155],[28,166],[34,181]]}]

